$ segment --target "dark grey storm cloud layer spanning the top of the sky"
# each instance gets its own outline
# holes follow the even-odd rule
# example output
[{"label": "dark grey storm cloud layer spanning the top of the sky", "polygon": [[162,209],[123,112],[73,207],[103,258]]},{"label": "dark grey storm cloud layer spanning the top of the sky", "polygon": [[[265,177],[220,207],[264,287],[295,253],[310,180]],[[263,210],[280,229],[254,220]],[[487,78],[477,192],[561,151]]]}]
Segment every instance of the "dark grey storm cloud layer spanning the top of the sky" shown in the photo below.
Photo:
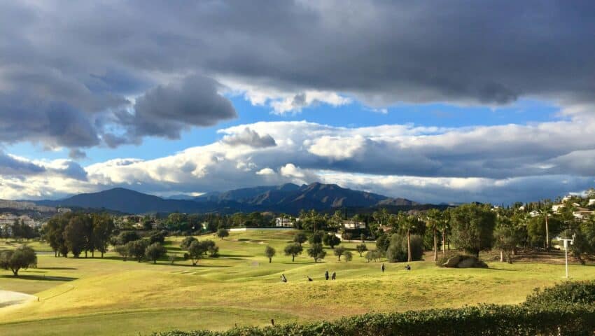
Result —
[{"label": "dark grey storm cloud layer spanning the top of the sky", "polygon": [[[592,1],[6,1],[0,141],[115,147],[235,116],[214,80],[164,79],[188,73],[344,92],[372,106],[590,105],[593,31]],[[139,94],[133,118],[115,116]],[[123,133],[96,123],[106,115]]]}]

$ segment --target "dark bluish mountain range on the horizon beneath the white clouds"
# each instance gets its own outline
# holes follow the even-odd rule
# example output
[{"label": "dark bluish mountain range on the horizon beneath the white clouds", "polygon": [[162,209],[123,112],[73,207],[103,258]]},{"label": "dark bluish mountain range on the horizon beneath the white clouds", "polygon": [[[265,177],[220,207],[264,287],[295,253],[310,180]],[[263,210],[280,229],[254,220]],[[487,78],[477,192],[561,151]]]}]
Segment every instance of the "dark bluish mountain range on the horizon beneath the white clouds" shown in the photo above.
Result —
[{"label": "dark bluish mountain range on the horizon beneath the white clouds", "polygon": [[[183,199],[181,199],[183,198]],[[311,183],[297,186],[259,186],[207,193],[189,198],[186,195],[162,198],[126,188],[113,188],[99,193],[85,193],[64,200],[35,201],[48,207],[80,207],[109,209],[129,214],[148,212],[186,213],[237,211],[274,211],[297,214],[301,209],[332,211],[339,208],[416,207],[421,204],[404,198],[391,198],[360,190],[342,188],[336,184]]]}]

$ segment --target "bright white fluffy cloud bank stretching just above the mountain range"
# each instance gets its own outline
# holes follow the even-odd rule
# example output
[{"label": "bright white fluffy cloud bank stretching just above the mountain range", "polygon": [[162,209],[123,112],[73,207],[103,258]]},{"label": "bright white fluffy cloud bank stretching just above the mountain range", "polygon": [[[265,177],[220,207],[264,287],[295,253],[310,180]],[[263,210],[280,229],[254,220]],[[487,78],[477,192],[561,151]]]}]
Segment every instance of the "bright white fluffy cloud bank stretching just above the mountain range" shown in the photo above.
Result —
[{"label": "bright white fluffy cloud bank stretching just above the mountain range", "polygon": [[10,165],[29,170],[21,176],[15,169],[0,173],[0,197],[113,186],[165,195],[321,181],[419,202],[534,200],[595,184],[594,127],[591,119],[459,129],[261,122],[220,133],[245,141],[267,134],[276,146],[216,141],[155,160],[121,158],[84,168],[69,160],[5,155]]}]

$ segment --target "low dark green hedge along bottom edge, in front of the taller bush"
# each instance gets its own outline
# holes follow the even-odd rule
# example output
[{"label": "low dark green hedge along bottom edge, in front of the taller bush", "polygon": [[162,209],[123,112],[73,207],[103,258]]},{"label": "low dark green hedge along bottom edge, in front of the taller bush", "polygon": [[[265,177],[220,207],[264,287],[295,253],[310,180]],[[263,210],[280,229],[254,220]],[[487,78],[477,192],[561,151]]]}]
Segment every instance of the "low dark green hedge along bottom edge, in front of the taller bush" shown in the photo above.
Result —
[{"label": "low dark green hedge along bottom edge, in front of the taller bush", "polygon": [[388,336],[388,335],[594,335],[595,307],[483,305],[393,314],[365,314],[332,322],[235,328],[225,332],[171,331],[155,336]]}]

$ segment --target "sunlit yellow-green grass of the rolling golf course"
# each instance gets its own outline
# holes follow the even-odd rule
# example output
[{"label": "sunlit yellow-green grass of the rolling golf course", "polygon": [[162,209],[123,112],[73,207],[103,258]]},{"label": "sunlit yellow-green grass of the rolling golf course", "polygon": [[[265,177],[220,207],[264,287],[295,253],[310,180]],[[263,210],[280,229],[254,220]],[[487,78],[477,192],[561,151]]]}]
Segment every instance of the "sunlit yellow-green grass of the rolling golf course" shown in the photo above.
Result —
[{"label": "sunlit yellow-green grass of the rolling golf course", "polygon": [[[291,262],[283,247],[293,233],[234,232],[225,240],[209,236],[220,246],[221,258],[200,260],[197,267],[181,259],[182,237],[167,241],[170,253],[180,257],[175,265],[167,260],[158,265],[123,262],[113,253],[104,259],[38,255],[39,268],[22,270],[19,278],[0,271],[0,289],[40,298],[0,309],[0,335],[220,330],[235,323],[266,325],[271,318],[283,323],[368,311],[514,304],[535,287],[563,281],[563,265],[525,262],[489,262],[489,269],[443,269],[421,261],[412,262],[410,272],[403,263],[386,263],[384,274],[379,263],[365,262],[355,251],[349,263],[337,262],[330,250],[321,263],[315,264],[305,254]],[[263,255],[267,245],[277,251],[270,264]],[[337,272],[337,281],[325,281],[325,269]],[[592,265],[570,266],[573,279],[595,279],[594,271]],[[281,274],[286,274],[288,283],[279,281]],[[314,281],[308,282],[306,276]]]}]

